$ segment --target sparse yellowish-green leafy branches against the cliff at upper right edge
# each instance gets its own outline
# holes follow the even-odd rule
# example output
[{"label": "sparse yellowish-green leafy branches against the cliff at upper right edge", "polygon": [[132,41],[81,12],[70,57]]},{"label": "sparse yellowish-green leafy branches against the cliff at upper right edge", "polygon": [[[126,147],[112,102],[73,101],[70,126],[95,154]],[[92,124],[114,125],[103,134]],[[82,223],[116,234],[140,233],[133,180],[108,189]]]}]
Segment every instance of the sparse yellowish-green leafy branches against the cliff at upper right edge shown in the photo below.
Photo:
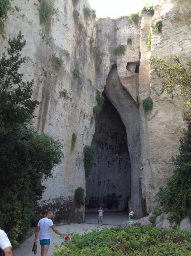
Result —
[{"label": "sparse yellowish-green leafy branches against the cliff at upper right edge", "polygon": [[191,60],[184,66],[178,56],[173,57],[174,64],[170,65],[166,59],[151,57],[150,62],[163,80],[162,91],[167,92],[172,98],[181,95],[185,116],[191,117]]}]

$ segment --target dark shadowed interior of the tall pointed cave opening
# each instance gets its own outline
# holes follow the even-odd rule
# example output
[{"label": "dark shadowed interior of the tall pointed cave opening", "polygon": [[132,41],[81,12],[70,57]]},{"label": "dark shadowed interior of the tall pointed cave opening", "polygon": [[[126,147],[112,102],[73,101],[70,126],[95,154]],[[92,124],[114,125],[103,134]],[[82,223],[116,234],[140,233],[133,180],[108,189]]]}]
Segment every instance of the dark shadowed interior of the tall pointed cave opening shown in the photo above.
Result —
[{"label": "dark shadowed interior of the tall pointed cave opening", "polygon": [[103,111],[96,117],[92,145],[96,147],[94,167],[87,178],[85,212],[125,211],[131,197],[131,165],[127,133],[117,109],[106,94]]}]

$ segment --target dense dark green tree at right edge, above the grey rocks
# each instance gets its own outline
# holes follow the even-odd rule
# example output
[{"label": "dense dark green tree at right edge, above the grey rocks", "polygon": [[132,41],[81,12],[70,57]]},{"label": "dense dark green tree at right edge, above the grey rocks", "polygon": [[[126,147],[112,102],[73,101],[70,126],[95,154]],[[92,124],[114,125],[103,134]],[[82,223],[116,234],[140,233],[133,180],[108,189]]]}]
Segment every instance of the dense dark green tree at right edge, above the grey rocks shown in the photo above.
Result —
[{"label": "dense dark green tree at right edge, above the grey rocks", "polygon": [[191,213],[191,120],[180,139],[179,155],[173,159],[174,175],[158,194],[159,204],[177,224]]}]

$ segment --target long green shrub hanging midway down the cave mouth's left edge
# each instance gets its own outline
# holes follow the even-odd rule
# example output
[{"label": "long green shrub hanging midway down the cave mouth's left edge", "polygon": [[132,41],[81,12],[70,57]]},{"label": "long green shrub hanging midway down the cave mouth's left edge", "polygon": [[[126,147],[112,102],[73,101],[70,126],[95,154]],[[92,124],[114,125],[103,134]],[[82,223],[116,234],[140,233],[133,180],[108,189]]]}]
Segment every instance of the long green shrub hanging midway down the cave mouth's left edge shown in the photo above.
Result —
[{"label": "long green shrub hanging midway down the cave mouth's left edge", "polygon": [[84,153],[83,160],[84,160],[85,177],[87,178],[94,164],[96,148],[94,146],[85,146],[83,149],[83,153]]}]

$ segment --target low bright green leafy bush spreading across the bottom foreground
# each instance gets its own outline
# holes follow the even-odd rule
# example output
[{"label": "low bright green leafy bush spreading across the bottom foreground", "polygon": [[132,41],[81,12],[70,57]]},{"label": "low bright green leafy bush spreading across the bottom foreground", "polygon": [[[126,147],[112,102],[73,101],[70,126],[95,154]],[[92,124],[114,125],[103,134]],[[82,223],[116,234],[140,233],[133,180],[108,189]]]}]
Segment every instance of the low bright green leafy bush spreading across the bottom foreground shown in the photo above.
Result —
[{"label": "low bright green leafy bush spreading across the bottom foreground", "polygon": [[190,256],[191,233],[149,226],[73,235],[53,256]]}]

